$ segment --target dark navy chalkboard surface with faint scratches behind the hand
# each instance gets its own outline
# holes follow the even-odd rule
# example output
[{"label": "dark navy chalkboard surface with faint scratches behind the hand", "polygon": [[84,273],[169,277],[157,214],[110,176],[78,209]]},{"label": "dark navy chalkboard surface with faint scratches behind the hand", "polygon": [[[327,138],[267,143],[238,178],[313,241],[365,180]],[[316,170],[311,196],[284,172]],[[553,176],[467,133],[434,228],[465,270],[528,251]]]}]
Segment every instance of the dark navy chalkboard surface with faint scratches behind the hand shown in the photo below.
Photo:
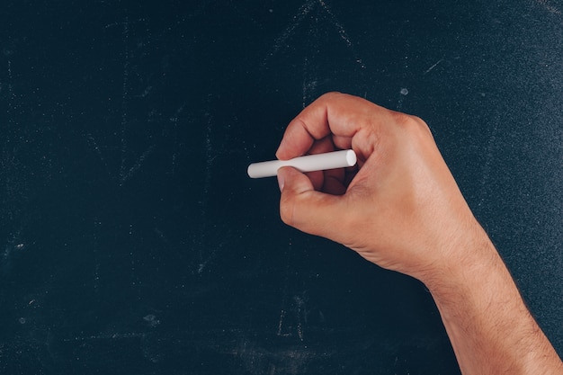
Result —
[{"label": "dark navy chalkboard surface with faint scratches behind the hand", "polygon": [[422,284],[286,228],[246,177],[330,90],[429,123],[563,353],[562,12],[4,1],[0,372],[459,372]]}]

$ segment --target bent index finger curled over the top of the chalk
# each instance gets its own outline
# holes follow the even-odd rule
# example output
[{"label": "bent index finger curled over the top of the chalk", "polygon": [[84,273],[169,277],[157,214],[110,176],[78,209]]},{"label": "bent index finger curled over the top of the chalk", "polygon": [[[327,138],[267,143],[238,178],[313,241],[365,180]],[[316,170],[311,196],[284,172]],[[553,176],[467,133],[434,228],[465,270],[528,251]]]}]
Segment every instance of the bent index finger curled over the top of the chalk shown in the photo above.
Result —
[{"label": "bent index finger curled over the top of the chalk", "polygon": [[290,122],[276,156],[286,160],[305,155],[316,142],[326,137],[331,137],[337,148],[351,148],[353,136],[386,112],[357,96],[324,94]]}]

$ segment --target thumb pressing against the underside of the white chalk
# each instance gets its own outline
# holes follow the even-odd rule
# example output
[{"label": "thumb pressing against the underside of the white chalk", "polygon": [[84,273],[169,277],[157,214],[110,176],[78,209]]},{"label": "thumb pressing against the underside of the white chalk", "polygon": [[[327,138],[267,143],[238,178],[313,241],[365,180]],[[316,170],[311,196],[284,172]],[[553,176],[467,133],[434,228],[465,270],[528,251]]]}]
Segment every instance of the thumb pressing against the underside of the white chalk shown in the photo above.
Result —
[{"label": "thumb pressing against the underside of the white chalk", "polygon": [[317,192],[308,177],[292,167],[278,170],[278,183],[284,223],[312,235],[334,237],[335,224],[344,214],[343,196]]}]

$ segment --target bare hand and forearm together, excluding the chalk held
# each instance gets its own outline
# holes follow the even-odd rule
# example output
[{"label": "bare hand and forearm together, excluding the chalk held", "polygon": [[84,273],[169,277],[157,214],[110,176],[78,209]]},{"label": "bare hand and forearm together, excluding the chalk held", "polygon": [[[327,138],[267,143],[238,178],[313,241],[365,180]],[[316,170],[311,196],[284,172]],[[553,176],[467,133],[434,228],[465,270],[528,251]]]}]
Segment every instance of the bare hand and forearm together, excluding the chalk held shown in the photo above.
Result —
[{"label": "bare hand and forearm together, excluding the chalk held", "polygon": [[424,282],[462,373],[563,374],[424,121],[329,93],[290,122],[276,156],[346,148],[353,169],[280,169],[281,219]]}]

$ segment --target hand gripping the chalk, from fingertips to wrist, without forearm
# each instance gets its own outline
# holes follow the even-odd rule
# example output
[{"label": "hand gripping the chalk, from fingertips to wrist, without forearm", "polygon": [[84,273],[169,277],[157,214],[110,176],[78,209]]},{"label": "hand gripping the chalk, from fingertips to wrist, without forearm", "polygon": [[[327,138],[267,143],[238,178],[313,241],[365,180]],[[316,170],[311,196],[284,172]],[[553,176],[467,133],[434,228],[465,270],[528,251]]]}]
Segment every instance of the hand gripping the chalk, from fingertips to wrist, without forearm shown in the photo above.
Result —
[{"label": "hand gripping the chalk, from fingertips to wrist, without forearm", "polygon": [[290,122],[276,156],[353,148],[359,168],[278,172],[281,219],[424,282],[455,272],[487,236],[424,121],[347,94],[321,96]]}]

